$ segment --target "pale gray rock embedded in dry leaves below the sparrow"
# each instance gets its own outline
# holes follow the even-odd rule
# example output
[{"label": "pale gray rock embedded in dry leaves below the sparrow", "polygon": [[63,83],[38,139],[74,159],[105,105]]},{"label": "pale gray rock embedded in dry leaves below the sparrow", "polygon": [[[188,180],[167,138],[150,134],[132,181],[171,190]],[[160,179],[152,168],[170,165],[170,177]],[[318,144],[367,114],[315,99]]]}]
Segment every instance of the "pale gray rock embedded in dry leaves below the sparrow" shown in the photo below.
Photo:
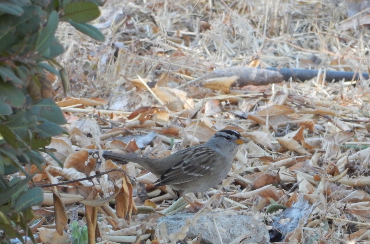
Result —
[{"label": "pale gray rock embedded in dry leaves below the sparrow", "polygon": [[160,243],[194,239],[199,234],[204,244],[269,243],[268,227],[262,220],[237,212],[178,213],[158,218],[157,224]]}]

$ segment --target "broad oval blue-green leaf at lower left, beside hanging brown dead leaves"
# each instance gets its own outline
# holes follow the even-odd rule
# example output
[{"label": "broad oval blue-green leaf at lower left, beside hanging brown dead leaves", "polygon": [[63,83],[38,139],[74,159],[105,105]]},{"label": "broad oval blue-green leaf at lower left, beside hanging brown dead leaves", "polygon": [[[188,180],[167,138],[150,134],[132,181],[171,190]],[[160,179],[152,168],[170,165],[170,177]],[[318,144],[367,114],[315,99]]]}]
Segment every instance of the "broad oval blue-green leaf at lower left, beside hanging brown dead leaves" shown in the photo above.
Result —
[{"label": "broad oval blue-green leaf at lower left, beside hanging brown dead leaves", "polygon": [[14,204],[14,211],[22,212],[27,208],[42,203],[44,200],[44,191],[41,187],[31,188],[25,191]]}]

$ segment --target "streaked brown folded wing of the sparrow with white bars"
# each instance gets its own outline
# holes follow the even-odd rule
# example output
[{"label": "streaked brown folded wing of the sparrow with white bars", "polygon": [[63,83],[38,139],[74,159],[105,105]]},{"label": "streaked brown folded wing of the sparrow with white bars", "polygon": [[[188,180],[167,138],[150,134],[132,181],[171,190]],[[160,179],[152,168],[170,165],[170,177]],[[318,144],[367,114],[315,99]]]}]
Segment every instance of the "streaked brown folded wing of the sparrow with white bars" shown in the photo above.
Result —
[{"label": "streaked brown folded wing of the sparrow with white bars", "polygon": [[[219,155],[201,145],[192,151],[179,152],[178,157],[182,160],[162,174],[157,186],[185,183],[209,175],[213,171],[212,163]],[[191,162],[194,158],[198,158],[197,162]]]}]

